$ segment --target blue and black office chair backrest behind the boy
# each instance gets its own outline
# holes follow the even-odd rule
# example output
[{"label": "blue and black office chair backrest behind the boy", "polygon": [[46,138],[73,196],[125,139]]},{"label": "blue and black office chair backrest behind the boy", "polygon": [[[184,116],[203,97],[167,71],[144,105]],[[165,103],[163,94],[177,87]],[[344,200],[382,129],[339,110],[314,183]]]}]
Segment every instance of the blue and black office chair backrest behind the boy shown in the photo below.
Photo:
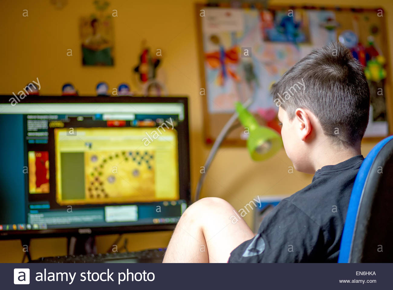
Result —
[{"label": "blue and black office chair backrest behind the boy", "polygon": [[393,262],[393,136],[376,144],[356,175],[338,262]]}]

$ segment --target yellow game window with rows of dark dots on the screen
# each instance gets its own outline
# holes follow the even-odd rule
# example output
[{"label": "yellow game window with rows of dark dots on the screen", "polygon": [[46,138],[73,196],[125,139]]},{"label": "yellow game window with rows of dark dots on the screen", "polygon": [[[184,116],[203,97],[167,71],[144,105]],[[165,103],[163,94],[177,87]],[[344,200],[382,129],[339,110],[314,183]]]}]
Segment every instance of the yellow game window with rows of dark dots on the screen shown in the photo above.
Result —
[{"label": "yellow game window with rows of dark dots on the screen", "polygon": [[54,129],[57,203],[179,199],[177,132],[161,129],[156,139],[143,142],[153,131],[155,127]]}]

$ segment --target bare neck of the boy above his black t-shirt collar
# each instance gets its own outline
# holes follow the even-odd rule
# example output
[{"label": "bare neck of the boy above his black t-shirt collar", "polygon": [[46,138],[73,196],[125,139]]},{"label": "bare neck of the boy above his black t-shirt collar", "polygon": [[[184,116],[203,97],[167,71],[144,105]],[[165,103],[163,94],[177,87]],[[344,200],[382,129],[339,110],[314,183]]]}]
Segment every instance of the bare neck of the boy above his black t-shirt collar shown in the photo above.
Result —
[{"label": "bare neck of the boy above his black t-shirt collar", "polygon": [[318,150],[318,152],[316,152],[316,156],[314,156],[314,172],[321,169],[323,166],[335,165],[362,154],[360,144],[354,147],[340,146],[337,148],[330,147],[323,149],[324,150]]}]

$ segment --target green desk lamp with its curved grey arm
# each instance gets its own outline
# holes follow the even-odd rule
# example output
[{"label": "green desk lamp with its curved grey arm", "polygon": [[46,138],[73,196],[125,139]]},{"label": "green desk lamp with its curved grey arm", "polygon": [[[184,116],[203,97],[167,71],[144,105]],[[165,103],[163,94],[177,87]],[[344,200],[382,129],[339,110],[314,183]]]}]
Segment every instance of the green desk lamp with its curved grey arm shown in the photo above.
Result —
[{"label": "green desk lamp with its curved grey arm", "polygon": [[235,103],[236,112],[231,116],[225,126],[222,128],[220,134],[215,140],[208,159],[206,159],[204,173],[201,174],[196,185],[195,201],[199,199],[200,191],[202,189],[203,181],[205,179],[208,168],[217,153],[220,144],[225,139],[226,135],[233,129],[233,123],[239,119],[242,126],[248,128],[249,135],[247,139],[247,149],[251,158],[255,161],[262,161],[272,157],[282,147],[281,136],[269,127],[259,126],[254,116],[247,110],[251,105],[252,100],[248,100],[242,105],[240,102]]}]

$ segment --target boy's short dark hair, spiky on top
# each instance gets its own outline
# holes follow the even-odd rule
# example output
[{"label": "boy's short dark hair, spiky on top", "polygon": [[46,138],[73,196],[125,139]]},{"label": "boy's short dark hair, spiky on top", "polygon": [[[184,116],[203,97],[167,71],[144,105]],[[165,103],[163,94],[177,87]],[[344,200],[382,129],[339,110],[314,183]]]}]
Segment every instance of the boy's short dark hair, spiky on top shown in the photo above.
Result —
[{"label": "boy's short dark hair, spiky on top", "polygon": [[332,42],[301,59],[272,85],[271,93],[289,120],[297,108],[314,113],[334,144],[353,146],[362,140],[370,91],[363,66],[341,43]]}]

